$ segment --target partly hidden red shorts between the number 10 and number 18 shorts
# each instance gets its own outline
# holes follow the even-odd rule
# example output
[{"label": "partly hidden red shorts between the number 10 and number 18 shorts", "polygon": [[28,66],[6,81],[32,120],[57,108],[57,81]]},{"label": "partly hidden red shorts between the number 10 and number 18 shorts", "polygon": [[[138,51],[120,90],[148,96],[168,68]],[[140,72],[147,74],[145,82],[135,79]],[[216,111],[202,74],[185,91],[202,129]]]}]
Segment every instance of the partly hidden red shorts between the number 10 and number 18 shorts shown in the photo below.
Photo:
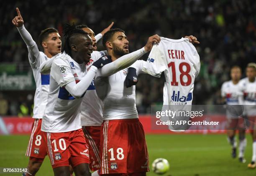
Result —
[{"label": "partly hidden red shorts between the number 10 and number 18 shorts", "polygon": [[100,128],[101,126],[82,126],[86,143],[89,145],[91,171],[100,170]]}]

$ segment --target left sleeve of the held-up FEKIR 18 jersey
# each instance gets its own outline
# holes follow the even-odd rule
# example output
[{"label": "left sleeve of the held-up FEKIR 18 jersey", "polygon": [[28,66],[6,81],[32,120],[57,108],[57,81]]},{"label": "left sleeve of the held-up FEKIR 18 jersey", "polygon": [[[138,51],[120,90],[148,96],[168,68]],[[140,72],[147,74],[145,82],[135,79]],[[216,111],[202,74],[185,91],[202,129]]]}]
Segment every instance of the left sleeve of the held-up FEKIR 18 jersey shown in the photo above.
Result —
[{"label": "left sleeve of the held-up FEKIR 18 jersey", "polygon": [[148,56],[147,61],[137,60],[130,67],[136,69],[136,73],[150,74],[154,77],[160,77],[161,73],[166,70],[164,59],[161,57],[158,46],[155,44]]}]

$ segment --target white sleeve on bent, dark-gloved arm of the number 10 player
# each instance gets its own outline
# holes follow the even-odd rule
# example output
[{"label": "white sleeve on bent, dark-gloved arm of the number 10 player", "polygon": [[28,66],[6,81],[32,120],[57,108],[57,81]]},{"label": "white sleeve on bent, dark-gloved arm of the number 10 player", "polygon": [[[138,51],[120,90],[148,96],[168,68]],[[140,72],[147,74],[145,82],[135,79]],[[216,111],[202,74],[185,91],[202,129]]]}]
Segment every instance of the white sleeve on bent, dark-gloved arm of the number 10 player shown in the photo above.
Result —
[{"label": "white sleeve on bent, dark-gloved arm of the number 10 player", "polygon": [[84,92],[90,86],[95,74],[97,73],[97,67],[92,66],[87,74],[76,84],[75,81],[66,84],[65,89],[76,99],[81,98]]}]

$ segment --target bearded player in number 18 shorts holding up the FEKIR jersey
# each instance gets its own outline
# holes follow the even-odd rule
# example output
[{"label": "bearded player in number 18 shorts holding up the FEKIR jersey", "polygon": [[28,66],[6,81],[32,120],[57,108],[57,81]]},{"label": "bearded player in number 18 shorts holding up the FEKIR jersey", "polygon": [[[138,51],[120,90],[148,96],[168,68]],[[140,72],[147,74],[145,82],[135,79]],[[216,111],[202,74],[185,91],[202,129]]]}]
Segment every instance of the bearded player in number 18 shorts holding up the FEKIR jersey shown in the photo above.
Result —
[{"label": "bearded player in number 18 shorts holding up the FEKIR jersey", "polygon": [[[154,35],[140,49],[142,56],[151,50],[160,37]],[[103,36],[109,59],[116,62],[129,53],[128,40],[123,30],[111,29]],[[97,95],[104,102],[100,139],[101,174],[146,175],[148,154],[145,135],[135,104],[135,87],[124,87],[126,67],[118,72],[104,75],[99,70],[95,76]],[[136,162],[135,162],[136,161]]]}]

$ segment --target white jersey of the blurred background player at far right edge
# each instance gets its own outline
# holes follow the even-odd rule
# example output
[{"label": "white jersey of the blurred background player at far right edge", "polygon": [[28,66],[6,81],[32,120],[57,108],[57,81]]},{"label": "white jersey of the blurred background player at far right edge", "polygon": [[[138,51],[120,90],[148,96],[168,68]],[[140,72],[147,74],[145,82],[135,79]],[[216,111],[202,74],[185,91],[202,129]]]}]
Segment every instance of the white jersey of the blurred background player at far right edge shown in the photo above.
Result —
[{"label": "white jersey of the blurred background player at far right edge", "polygon": [[239,87],[243,92],[243,102],[246,114],[256,116],[256,79],[254,82],[249,82],[248,78],[241,79]]}]

